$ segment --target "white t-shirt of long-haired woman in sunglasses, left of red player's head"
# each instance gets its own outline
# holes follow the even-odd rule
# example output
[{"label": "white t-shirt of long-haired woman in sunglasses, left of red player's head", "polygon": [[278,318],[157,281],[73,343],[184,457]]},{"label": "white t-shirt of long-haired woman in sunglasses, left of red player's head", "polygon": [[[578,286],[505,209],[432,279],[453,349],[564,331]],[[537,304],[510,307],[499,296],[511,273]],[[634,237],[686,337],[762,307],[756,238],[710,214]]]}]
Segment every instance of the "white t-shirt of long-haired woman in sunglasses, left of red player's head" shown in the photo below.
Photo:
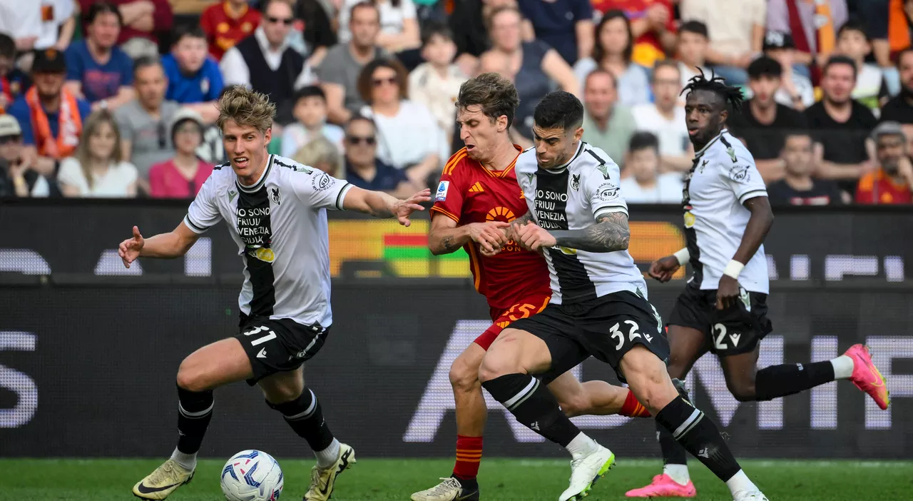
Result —
[{"label": "white t-shirt of long-haired woman in sunglasses, left of red player's head", "polygon": [[438,155],[442,163],[450,156],[444,131],[423,104],[400,101],[399,112],[394,116],[375,113],[370,106],[364,106],[362,115],[377,125],[377,157],[384,164],[404,169],[420,163],[427,155]]}]

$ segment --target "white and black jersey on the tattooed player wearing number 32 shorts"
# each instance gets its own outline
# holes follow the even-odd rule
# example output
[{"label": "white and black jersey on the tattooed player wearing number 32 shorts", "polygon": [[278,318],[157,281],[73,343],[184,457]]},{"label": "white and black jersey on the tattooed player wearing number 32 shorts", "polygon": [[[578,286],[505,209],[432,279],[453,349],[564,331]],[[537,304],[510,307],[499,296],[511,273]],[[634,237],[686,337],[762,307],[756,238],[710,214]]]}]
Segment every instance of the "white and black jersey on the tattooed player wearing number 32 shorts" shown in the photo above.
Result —
[{"label": "white and black jersey on the tattooed player wearing number 32 shorts", "polygon": [[[581,142],[571,160],[546,170],[536,162],[536,151],[517,158],[517,180],[533,221],[544,229],[585,229],[596,216],[624,212],[620,175],[609,155]],[[587,252],[551,248],[545,251],[551,275],[551,303],[570,304],[608,293],[630,291],[646,297],[644,275],[627,250]]]}]

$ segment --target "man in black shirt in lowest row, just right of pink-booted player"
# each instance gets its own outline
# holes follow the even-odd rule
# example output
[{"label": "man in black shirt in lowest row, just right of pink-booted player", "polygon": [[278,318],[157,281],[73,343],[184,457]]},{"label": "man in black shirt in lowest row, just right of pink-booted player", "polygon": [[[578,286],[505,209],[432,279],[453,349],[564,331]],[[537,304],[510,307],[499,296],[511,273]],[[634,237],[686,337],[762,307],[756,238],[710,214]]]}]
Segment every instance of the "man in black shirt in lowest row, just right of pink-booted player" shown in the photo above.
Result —
[{"label": "man in black shirt in lowest row, just right of pink-booted player", "polygon": [[[781,152],[783,177],[767,187],[771,205],[827,206],[846,197],[831,179],[815,179],[812,136],[798,129],[787,133]],[[761,173],[763,175],[763,173]]]}]

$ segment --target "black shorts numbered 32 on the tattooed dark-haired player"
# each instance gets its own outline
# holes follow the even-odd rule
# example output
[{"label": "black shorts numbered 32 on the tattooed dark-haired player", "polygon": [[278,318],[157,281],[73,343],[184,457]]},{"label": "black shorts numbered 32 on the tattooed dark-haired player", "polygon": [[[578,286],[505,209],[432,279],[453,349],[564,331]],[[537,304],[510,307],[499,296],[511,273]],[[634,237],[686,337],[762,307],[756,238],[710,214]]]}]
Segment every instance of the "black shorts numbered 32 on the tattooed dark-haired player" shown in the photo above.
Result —
[{"label": "black shorts numbered 32 on the tattooed dark-haired player", "polygon": [[586,358],[596,357],[614,368],[635,345],[643,345],[666,362],[669,344],[662,320],[643,297],[622,291],[575,304],[549,304],[539,314],[509,325],[540,337],[549,346],[551,369],[540,376],[550,383]]}]

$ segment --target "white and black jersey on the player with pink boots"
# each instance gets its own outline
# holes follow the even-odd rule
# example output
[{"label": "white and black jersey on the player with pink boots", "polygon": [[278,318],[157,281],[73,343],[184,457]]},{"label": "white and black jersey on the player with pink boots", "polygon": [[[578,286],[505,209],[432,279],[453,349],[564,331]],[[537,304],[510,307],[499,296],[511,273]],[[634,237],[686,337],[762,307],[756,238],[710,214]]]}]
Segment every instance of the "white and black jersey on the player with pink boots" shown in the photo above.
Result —
[{"label": "white and black jersey on the player with pink boots", "polygon": [[[767,197],[767,189],[748,148],[726,129],[694,158],[685,177],[682,207],[685,238],[694,274],[689,283],[700,289],[717,289],[723,269],[739,249],[751,217],[742,204],[753,197]],[[767,259],[758,249],[739,275],[746,291],[768,293]]]}]

